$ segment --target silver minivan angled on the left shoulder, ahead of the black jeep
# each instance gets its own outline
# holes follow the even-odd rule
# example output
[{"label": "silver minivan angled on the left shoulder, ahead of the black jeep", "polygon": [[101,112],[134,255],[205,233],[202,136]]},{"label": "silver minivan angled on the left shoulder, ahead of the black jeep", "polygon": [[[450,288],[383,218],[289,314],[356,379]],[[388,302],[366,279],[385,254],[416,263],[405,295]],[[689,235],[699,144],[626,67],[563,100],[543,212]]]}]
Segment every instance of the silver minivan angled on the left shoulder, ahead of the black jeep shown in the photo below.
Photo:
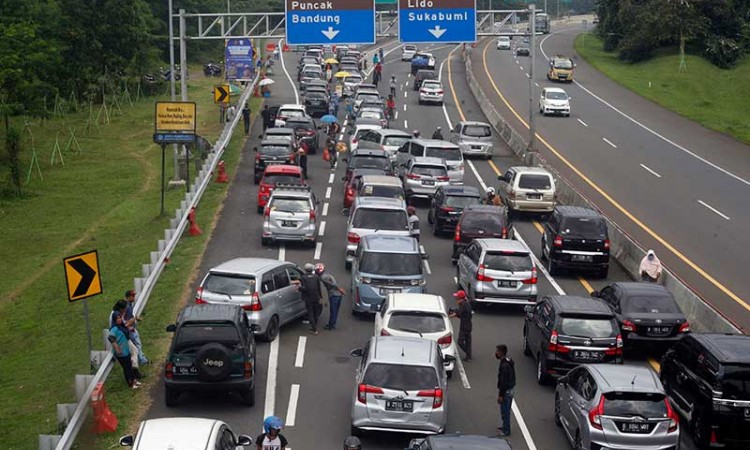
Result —
[{"label": "silver minivan angled on the left shoulder, ahead of the black jeep", "polygon": [[272,341],[279,327],[307,314],[293,263],[267,258],[236,258],[208,271],[196,292],[196,303],[240,305],[256,334]]}]

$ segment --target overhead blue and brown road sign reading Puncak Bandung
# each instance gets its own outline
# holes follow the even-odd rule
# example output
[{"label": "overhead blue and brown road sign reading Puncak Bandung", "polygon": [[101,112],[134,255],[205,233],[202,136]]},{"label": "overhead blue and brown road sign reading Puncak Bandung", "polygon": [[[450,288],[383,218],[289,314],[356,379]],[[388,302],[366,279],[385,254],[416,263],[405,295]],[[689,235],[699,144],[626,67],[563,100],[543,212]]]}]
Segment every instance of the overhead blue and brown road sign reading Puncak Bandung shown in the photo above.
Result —
[{"label": "overhead blue and brown road sign reading Puncak Bandung", "polygon": [[286,0],[291,45],[374,44],[375,0]]}]

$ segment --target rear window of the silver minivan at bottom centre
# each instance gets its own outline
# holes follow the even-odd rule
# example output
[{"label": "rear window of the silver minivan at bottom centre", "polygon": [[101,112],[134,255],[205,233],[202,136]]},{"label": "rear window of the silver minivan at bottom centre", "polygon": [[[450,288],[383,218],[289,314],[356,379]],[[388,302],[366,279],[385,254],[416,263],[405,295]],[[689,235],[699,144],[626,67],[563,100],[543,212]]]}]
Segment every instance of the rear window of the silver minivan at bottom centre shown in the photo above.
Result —
[{"label": "rear window of the silver minivan at bottom centre", "polygon": [[370,386],[406,391],[435,389],[438,386],[437,372],[433,367],[385,363],[367,366],[362,382]]}]

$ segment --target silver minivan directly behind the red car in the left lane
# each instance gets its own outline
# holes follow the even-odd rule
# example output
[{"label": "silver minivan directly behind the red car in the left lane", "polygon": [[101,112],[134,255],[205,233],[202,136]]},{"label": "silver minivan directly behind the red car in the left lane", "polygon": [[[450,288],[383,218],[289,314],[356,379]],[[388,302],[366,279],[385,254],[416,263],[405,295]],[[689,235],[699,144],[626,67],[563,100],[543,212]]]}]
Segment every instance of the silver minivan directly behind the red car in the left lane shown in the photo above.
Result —
[{"label": "silver minivan directly behind the red car in the left lane", "polygon": [[277,184],[264,209],[261,244],[291,241],[315,245],[319,204],[309,186]]}]

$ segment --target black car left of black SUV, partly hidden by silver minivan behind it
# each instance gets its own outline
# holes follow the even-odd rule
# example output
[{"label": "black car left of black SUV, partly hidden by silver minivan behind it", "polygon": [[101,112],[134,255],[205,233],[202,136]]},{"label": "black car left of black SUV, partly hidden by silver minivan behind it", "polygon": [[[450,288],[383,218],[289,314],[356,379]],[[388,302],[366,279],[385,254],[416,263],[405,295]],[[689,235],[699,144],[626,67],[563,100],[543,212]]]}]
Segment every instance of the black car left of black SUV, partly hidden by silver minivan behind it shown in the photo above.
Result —
[{"label": "black car left of black SUV, partly hidden by silver minivan behind it", "polygon": [[451,262],[456,264],[458,257],[474,239],[512,239],[513,234],[513,224],[508,220],[508,210],[504,206],[471,205],[466,207],[453,233]]}]

